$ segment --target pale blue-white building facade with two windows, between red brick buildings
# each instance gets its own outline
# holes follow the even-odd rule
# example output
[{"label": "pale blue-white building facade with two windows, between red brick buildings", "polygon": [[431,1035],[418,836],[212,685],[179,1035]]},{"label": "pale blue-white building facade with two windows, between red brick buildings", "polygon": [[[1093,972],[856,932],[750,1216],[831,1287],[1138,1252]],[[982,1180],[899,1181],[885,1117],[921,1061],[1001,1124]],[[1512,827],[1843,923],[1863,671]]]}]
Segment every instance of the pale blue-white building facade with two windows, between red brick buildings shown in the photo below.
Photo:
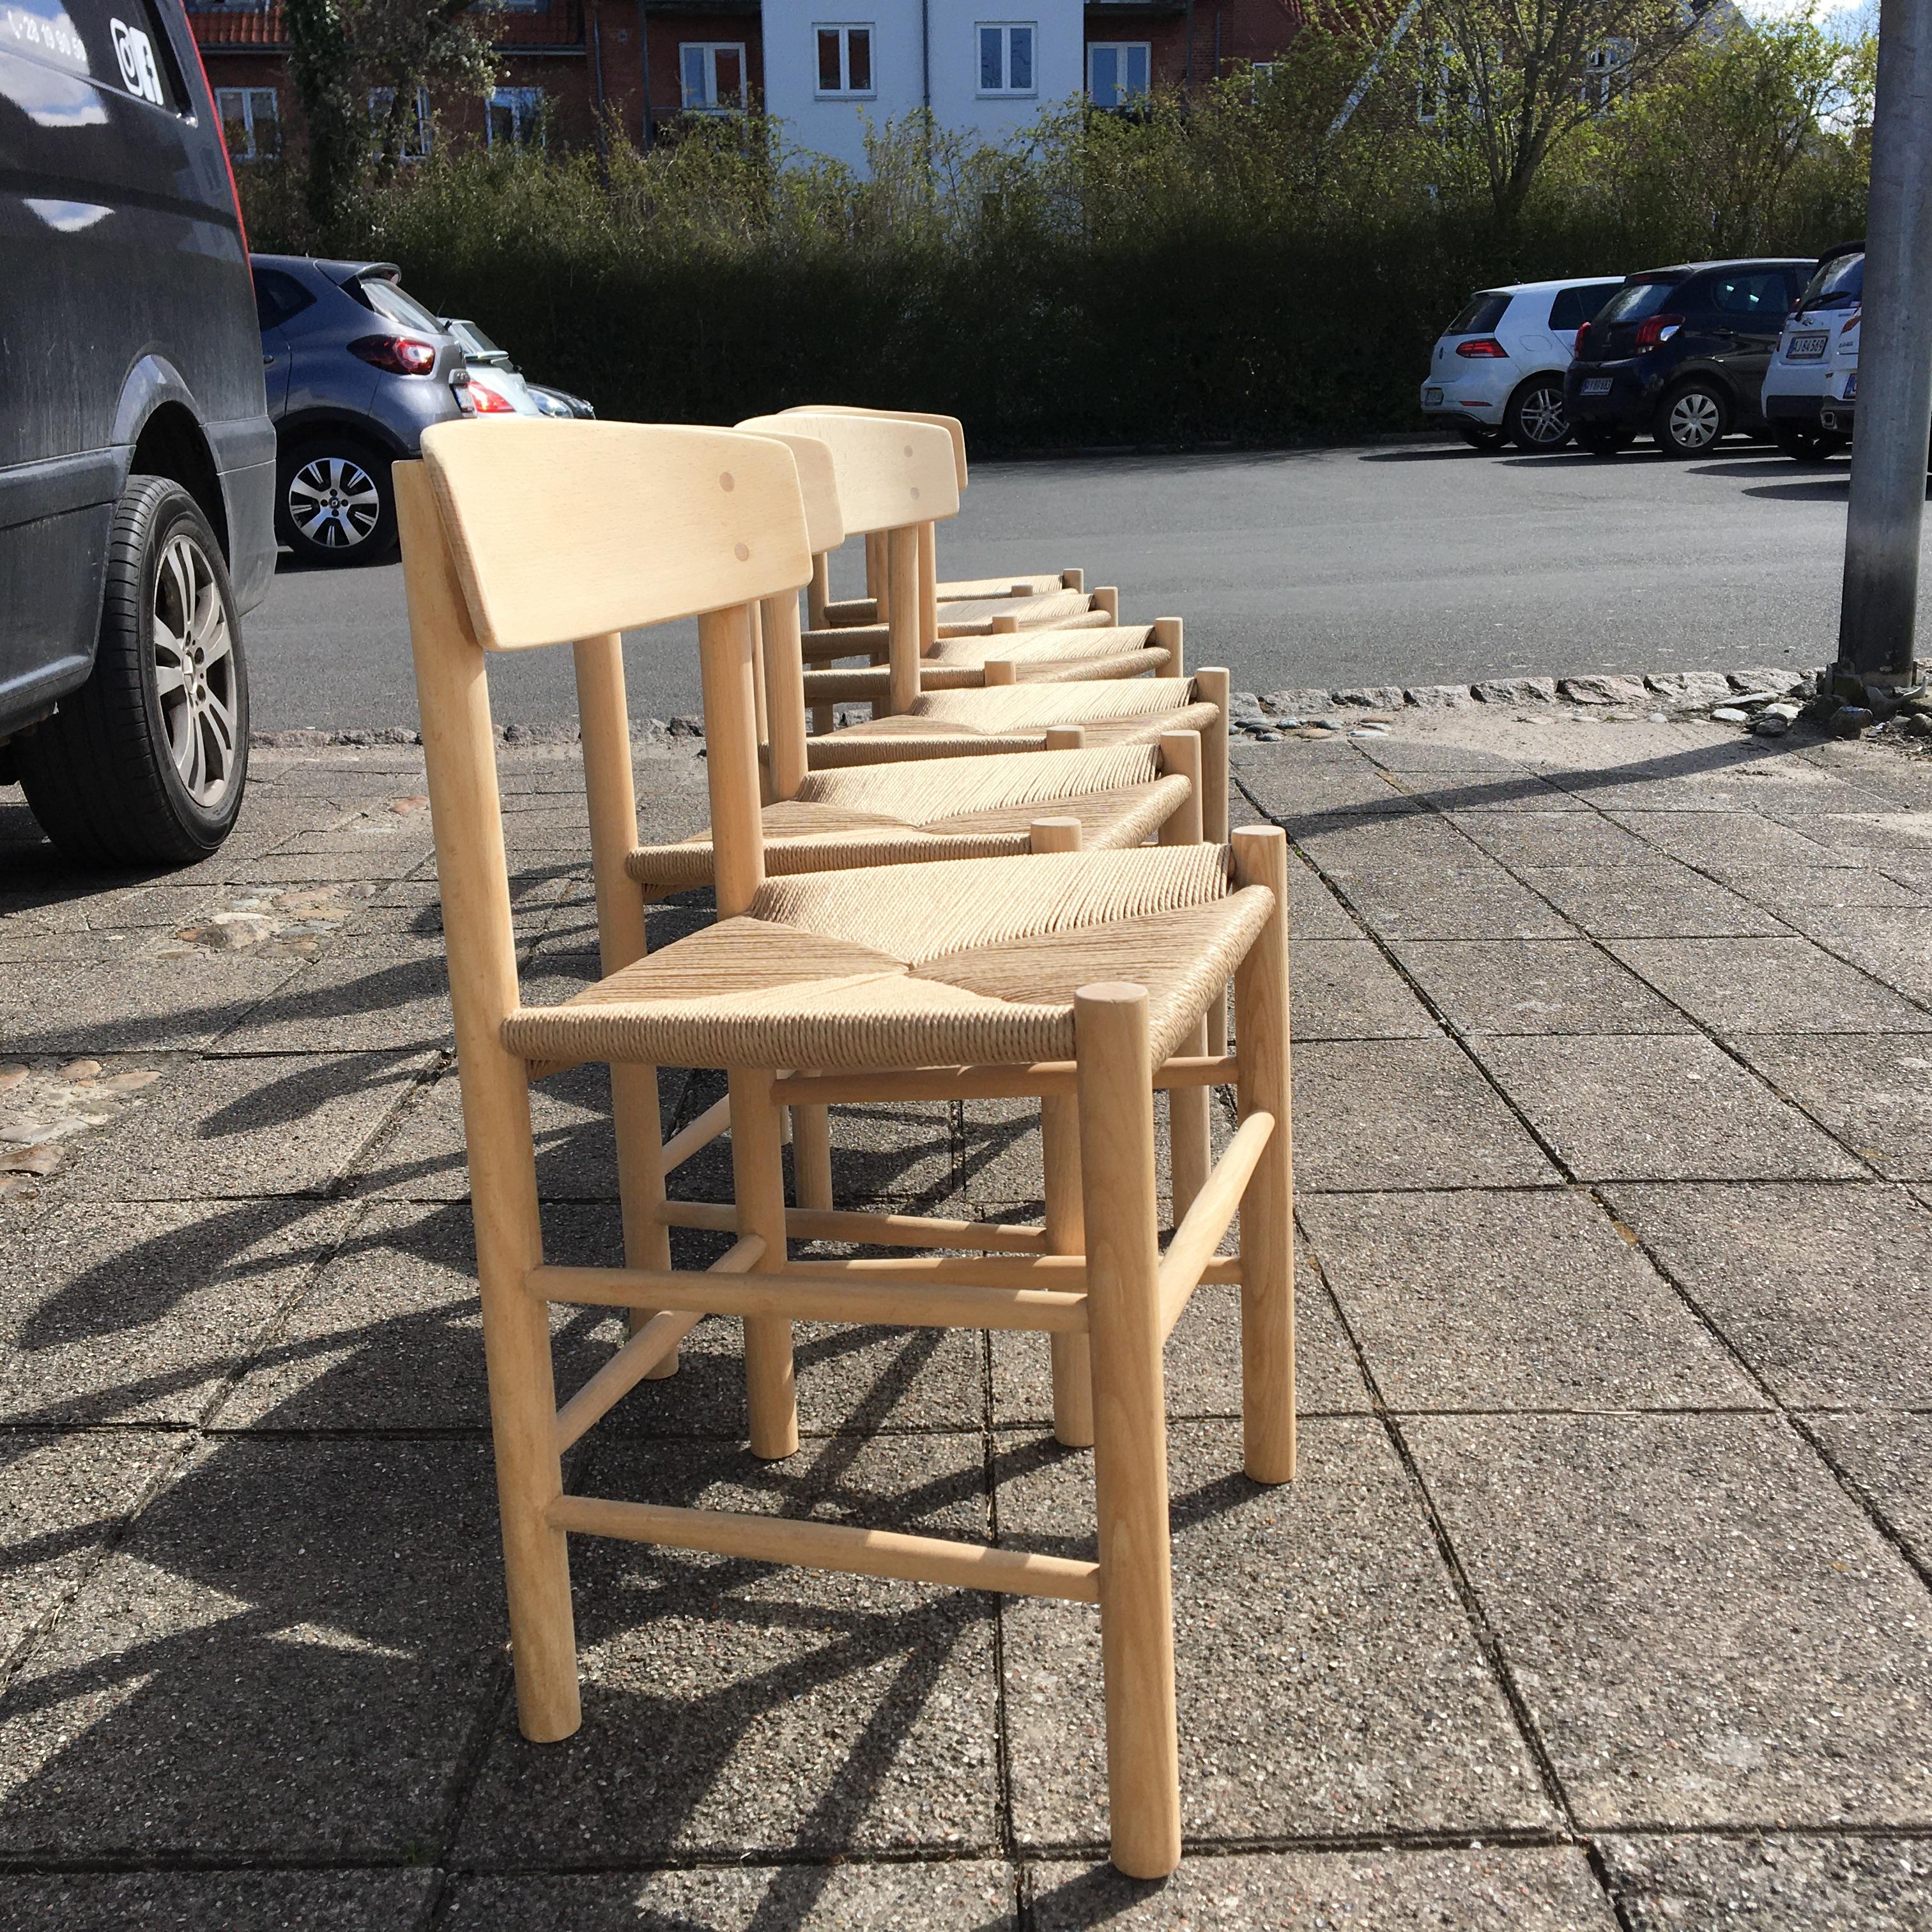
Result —
[{"label": "pale blue-white building facade with two windows, between red brick buildings", "polygon": [[866,166],[916,108],[1001,141],[1086,89],[1082,0],[763,0],[765,110],[794,151]]}]

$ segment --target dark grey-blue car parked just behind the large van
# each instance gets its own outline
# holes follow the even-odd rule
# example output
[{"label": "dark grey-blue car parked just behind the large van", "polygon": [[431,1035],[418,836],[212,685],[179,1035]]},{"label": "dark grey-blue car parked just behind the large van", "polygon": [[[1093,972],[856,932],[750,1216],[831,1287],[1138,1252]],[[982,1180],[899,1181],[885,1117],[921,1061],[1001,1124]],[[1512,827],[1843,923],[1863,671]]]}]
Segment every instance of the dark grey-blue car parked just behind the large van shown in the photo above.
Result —
[{"label": "dark grey-blue car parked just behind the large van", "polygon": [[462,344],[392,261],[255,255],[269,413],[280,437],[274,527],[305,564],[396,545],[388,466],[468,412]]}]

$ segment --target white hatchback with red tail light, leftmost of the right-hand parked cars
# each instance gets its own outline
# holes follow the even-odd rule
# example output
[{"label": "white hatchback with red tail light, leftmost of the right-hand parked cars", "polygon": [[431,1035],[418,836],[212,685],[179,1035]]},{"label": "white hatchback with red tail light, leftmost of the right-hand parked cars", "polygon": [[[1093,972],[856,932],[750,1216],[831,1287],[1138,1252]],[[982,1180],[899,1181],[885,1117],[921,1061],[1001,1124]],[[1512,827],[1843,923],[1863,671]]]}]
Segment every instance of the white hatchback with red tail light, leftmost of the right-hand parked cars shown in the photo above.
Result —
[{"label": "white hatchback with red tail light, leftmost of the right-hand parked cars", "polygon": [[1569,440],[1563,371],[1577,330],[1623,286],[1621,276],[1478,288],[1435,338],[1422,413],[1478,450],[1513,442],[1557,450]]}]

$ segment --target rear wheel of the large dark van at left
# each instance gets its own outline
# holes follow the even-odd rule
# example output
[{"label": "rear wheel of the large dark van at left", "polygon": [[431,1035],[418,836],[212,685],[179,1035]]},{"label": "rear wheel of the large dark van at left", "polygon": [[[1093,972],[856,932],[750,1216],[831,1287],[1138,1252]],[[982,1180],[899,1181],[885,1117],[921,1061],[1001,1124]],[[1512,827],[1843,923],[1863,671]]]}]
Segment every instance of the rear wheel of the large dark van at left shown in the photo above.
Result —
[{"label": "rear wheel of the large dark van at left", "polygon": [[15,740],[48,838],[89,866],[191,866],[247,784],[247,665],[220,545],[193,497],[131,477],[114,506],[89,680]]}]

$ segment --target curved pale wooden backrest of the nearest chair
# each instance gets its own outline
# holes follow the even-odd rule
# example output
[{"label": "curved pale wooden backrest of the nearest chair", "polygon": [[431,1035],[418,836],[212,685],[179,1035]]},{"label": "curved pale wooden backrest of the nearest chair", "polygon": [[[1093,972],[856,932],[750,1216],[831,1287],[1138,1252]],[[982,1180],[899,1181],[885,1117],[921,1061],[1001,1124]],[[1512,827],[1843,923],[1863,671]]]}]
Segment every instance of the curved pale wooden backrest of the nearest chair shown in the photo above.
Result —
[{"label": "curved pale wooden backrest of the nearest chair", "polygon": [[726,611],[811,580],[798,464],[771,437],[437,423],[423,469],[485,651]]}]

